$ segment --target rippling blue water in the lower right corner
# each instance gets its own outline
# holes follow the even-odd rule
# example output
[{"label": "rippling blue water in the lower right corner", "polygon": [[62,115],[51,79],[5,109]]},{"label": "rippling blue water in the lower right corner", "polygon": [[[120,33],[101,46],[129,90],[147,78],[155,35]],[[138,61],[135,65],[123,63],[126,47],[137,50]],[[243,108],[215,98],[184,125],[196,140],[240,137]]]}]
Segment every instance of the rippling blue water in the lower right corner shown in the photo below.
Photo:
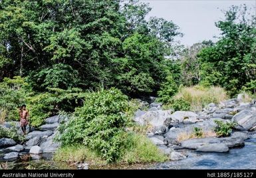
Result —
[{"label": "rippling blue water in the lower right corner", "polygon": [[181,161],[158,163],[150,169],[256,169],[256,137],[247,139],[245,146],[227,153],[190,151]]}]

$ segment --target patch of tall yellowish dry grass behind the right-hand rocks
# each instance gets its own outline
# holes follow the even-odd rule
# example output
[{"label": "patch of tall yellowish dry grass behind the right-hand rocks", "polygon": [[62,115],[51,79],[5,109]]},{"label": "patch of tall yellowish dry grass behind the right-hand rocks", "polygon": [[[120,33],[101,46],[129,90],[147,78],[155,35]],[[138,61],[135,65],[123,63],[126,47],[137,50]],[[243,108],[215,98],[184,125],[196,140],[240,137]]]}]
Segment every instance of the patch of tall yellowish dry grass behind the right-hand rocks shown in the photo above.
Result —
[{"label": "patch of tall yellowish dry grass behind the right-hand rocks", "polygon": [[223,100],[227,100],[228,96],[227,92],[219,86],[211,86],[210,88],[191,86],[181,88],[178,94],[174,96],[174,100],[180,98],[190,103],[192,111],[199,111],[211,102],[217,104]]}]

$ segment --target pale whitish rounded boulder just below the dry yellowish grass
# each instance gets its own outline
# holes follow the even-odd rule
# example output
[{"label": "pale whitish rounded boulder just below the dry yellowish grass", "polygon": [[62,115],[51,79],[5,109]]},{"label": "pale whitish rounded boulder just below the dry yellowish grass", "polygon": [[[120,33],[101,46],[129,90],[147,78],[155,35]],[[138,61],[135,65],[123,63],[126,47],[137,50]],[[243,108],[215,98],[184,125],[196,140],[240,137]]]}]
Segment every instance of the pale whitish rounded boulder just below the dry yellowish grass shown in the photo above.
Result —
[{"label": "pale whitish rounded boulder just below the dry yellowish grass", "polygon": [[171,115],[172,122],[184,122],[184,120],[197,120],[198,116],[194,112],[177,111]]}]

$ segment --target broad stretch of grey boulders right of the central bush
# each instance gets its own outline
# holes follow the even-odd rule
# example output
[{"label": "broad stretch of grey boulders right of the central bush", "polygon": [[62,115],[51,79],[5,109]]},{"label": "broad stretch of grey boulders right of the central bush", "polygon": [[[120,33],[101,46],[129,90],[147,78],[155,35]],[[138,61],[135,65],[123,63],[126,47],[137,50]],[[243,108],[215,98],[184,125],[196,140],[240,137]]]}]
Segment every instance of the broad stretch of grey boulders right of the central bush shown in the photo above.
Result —
[{"label": "broad stretch of grey boulders right of the central bush", "polygon": [[[219,104],[209,104],[201,112],[162,110],[162,104],[148,104],[147,111],[138,110],[134,121],[142,126],[150,125],[148,137],[170,160],[188,157],[183,149],[198,152],[228,152],[233,147],[243,147],[245,140],[256,130],[256,102],[242,102],[243,95]],[[147,103],[143,102],[144,105]],[[214,120],[236,122],[229,137],[217,137],[213,132]],[[192,137],[194,128],[203,132],[203,137]]]}]

